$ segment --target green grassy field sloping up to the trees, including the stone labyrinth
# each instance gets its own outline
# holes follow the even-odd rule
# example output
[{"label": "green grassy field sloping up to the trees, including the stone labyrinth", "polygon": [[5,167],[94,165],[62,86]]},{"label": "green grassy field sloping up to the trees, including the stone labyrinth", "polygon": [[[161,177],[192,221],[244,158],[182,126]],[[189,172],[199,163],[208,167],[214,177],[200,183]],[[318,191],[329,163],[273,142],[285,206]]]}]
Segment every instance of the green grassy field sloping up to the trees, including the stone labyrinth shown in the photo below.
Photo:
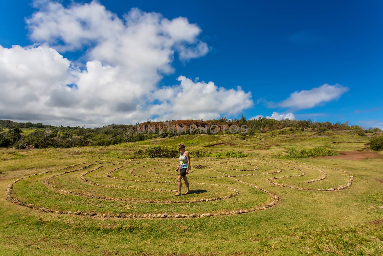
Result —
[{"label": "green grassy field sloping up to the trees, including the stone labyrinth", "polygon": [[[178,159],[134,159],[134,151],[180,142],[248,157],[191,158],[192,193],[175,197]],[[0,254],[383,255],[383,154],[285,157],[289,147],[355,151],[367,142],[350,131],[284,129],[246,140],[1,149]]]}]

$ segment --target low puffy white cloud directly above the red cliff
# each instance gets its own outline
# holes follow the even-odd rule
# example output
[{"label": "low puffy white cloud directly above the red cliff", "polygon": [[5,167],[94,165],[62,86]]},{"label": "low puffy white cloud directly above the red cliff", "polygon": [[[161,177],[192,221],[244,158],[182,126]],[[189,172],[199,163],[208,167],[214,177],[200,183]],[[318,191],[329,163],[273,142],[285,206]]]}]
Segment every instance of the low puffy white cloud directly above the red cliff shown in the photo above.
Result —
[{"label": "low puffy white cloud directly above the red cliff", "polygon": [[213,82],[193,82],[190,78],[179,76],[179,85],[159,89],[155,99],[161,104],[152,105],[150,114],[165,119],[212,119],[219,118],[220,112],[229,116],[253,106],[251,92],[241,87],[225,89]]}]

